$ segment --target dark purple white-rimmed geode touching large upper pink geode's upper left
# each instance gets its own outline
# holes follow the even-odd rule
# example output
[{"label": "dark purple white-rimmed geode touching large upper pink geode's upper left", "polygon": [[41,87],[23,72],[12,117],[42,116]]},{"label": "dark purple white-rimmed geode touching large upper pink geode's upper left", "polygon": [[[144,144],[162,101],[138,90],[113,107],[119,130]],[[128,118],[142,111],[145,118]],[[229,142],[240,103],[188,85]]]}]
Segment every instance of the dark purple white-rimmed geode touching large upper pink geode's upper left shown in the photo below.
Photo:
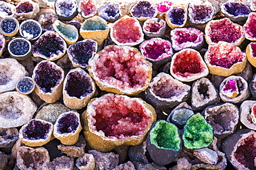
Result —
[{"label": "dark purple white-rimmed geode touching large upper pink geode's upper left", "polygon": [[98,43],[93,39],[84,39],[73,45],[70,45],[66,52],[73,67],[86,68],[88,61],[98,50]]}]

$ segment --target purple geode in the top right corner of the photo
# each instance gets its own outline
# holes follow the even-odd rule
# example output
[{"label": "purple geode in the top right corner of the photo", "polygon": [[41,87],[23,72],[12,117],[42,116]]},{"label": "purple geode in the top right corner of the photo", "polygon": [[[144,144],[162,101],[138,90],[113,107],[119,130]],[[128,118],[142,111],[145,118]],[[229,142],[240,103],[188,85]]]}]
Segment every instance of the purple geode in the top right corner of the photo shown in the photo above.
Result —
[{"label": "purple geode in the top right corner of the photo", "polygon": [[226,12],[234,15],[235,17],[239,15],[248,15],[250,14],[250,8],[246,6],[244,3],[239,2],[230,2],[225,4]]}]

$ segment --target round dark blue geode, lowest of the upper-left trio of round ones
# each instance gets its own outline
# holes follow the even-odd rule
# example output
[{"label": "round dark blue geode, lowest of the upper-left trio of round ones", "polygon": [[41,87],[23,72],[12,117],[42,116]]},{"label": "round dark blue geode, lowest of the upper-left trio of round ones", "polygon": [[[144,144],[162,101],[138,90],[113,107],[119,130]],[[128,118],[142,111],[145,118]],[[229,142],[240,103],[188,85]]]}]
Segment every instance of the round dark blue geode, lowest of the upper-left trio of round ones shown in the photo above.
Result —
[{"label": "round dark blue geode, lowest of the upper-left trio of round ones", "polygon": [[15,38],[8,43],[8,52],[13,59],[26,60],[32,54],[30,41],[24,38]]}]

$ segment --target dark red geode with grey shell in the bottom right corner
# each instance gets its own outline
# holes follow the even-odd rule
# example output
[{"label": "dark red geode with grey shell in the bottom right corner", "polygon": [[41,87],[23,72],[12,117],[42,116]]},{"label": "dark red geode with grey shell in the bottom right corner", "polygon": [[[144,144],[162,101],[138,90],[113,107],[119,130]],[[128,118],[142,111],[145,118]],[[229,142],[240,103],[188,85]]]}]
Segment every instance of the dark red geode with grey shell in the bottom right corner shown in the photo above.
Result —
[{"label": "dark red geode with grey shell in the bottom right corner", "polygon": [[237,129],[222,141],[221,148],[235,169],[256,169],[256,133],[250,129]]}]

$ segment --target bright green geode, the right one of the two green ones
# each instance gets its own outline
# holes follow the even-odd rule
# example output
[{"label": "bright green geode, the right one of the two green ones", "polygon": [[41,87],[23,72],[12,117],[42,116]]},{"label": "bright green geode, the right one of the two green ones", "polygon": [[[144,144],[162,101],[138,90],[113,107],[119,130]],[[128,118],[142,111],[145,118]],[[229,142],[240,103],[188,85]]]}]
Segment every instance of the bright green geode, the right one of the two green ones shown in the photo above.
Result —
[{"label": "bright green geode, the right one of the two green ones", "polygon": [[188,149],[208,147],[213,140],[213,128],[201,114],[191,116],[184,126],[182,136],[184,145]]}]

